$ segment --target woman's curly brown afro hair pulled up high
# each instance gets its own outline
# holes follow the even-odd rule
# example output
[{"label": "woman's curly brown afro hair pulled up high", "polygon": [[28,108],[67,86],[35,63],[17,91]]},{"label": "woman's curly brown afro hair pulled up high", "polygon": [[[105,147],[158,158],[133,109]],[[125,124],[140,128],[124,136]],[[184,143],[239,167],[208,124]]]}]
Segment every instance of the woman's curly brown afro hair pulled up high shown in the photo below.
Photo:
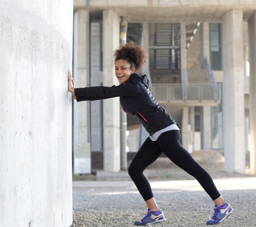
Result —
[{"label": "woman's curly brown afro hair pulled up high", "polygon": [[133,41],[121,44],[113,54],[114,64],[116,64],[119,59],[125,59],[131,65],[131,69],[135,67],[136,73],[142,72],[142,67],[146,62],[146,58],[147,51],[141,46],[135,45]]}]

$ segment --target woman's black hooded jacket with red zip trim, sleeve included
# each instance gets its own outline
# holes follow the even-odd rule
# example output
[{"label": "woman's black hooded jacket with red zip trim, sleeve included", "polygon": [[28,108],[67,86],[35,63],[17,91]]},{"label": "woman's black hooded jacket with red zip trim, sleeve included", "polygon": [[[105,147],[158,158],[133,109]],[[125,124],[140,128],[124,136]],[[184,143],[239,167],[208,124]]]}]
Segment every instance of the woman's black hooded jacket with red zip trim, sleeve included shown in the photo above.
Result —
[{"label": "woman's black hooded jacket with red zip trim, sleeve included", "polygon": [[78,102],[120,97],[123,110],[135,116],[149,135],[152,135],[176,122],[162,106],[158,105],[148,87],[147,75],[140,76],[134,73],[126,84],[112,87],[75,88],[74,91]]}]

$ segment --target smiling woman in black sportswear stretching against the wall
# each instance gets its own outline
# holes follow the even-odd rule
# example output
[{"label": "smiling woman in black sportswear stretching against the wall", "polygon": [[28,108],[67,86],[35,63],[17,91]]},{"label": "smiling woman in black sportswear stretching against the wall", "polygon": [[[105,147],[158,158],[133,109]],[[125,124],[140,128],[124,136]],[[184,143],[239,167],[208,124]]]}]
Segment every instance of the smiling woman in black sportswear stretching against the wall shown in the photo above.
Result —
[{"label": "smiling woman in black sportswear stretching against the wall", "polygon": [[176,122],[158,105],[149,91],[147,75],[139,75],[147,57],[146,51],[133,42],[121,45],[114,51],[115,75],[119,86],[74,88],[74,80],[68,72],[68,90],[73,99],[93,101],[120,97],[123,110],[135,116],[149,133],[129,166],[128,173],[147,203],[148,211],[135,225],[149,225],[165,221],[164,214],[155,202],[151,186],[143,175],[144,169],[164,152],[177,166],[195,177],[214,202],[214,214],[207,225],[218,224],[228,217],[232,207],[217,190],[210,175],[195,162],[179,143],[180,132]]}]

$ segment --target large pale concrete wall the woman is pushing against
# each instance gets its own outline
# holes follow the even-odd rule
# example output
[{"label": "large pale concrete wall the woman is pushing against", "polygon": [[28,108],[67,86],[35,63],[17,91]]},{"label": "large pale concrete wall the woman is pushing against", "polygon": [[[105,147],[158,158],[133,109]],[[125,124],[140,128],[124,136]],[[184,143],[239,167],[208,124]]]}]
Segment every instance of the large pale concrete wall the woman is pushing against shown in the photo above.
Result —
[{"label": "large pale concrete wall the woman is pushing against", "polygon": [[72,224],[73,1],[0,1],[0,227]]}]

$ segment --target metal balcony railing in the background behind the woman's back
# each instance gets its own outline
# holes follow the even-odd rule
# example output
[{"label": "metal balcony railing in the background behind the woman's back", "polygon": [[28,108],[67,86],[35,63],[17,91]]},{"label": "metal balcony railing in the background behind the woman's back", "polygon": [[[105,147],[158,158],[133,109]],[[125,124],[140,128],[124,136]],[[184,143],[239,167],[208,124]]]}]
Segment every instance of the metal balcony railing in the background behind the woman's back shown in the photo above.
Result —
[{"label": "metal balcony railing in the background behind the woman's back", "polygon": [[[186,94],[184,94],[186,92]],[[216,88],[212,84],[189,84],[184,89],[182,84],[153,84],[152,93],[157,101],[201,103],[203,101],[220,101],[221,84]]]}]

